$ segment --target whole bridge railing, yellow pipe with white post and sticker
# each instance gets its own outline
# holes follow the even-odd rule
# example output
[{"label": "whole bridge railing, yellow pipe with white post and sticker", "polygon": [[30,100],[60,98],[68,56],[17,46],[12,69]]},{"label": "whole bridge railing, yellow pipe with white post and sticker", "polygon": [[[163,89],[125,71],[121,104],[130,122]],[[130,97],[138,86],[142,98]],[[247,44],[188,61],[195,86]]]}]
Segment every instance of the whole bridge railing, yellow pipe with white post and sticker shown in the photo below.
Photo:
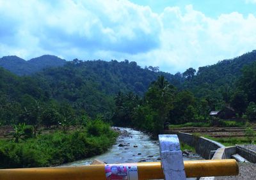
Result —
[{"label": "whole bridge railing, yellow pipe with white post and sticker", "polygon": [[177,135],[159,135],[161,162],[100,164],[77,167],[1,169],[0,180],[179,179],[236,176],[236,160],[183,161]]}]

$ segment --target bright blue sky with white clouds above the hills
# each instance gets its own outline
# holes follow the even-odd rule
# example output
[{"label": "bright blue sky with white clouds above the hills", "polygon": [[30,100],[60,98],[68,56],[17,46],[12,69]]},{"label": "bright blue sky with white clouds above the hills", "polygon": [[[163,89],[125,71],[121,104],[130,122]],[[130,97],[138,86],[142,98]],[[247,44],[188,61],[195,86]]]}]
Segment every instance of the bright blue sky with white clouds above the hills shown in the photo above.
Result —
[{"label": "bright blue sky with white clouds above the hills", "polygon": [[136,61],[176,73],[256,49],[256,0],[0,0],[0,56]]}]

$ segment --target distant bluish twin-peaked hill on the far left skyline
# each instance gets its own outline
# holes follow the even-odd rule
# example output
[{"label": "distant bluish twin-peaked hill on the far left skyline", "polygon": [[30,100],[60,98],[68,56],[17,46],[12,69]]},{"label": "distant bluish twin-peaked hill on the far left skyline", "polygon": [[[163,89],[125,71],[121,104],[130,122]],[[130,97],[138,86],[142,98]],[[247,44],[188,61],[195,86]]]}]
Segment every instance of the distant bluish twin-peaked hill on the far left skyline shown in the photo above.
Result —
[{"label": "distant bluish twin-peaked hill on the far left skyline", "polygon": [[44,68],[63,66],[67,61],[57,56],[44,55],[25,61],[17,56],[0,58],[0,66],[16,75],[30,75]]}]

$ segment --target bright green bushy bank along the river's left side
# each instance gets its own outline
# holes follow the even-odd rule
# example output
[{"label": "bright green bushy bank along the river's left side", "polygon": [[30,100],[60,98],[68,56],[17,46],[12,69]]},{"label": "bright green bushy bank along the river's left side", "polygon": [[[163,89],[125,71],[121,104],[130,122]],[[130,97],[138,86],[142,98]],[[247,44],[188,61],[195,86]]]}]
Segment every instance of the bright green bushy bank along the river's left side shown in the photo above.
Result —
[{"label": "bright green bushy bank along the river's left side", "polygon": [[104,153],[117,133],[102,121],[79,130],[56,131],[15,143],[0,140],[0,168],[49,167]]}]

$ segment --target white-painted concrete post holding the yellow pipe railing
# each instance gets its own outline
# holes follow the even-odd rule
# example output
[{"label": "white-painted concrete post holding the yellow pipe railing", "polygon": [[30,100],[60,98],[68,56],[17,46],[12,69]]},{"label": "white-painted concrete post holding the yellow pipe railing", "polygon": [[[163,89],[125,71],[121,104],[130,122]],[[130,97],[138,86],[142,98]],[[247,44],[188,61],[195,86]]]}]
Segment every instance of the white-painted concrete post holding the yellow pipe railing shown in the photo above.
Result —
[{"label": "white-painted concrete post holding the yellow pipe railing", "polygon": [[159,135],[158,137],[164,179],[186,180],[183,156],[177,135]]}]

